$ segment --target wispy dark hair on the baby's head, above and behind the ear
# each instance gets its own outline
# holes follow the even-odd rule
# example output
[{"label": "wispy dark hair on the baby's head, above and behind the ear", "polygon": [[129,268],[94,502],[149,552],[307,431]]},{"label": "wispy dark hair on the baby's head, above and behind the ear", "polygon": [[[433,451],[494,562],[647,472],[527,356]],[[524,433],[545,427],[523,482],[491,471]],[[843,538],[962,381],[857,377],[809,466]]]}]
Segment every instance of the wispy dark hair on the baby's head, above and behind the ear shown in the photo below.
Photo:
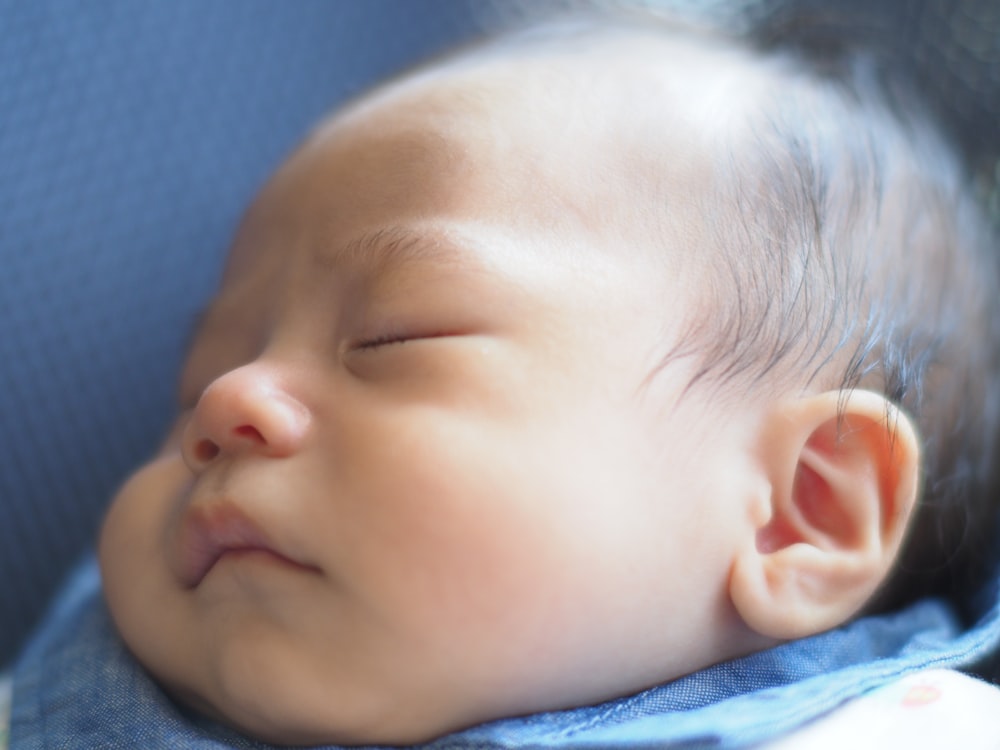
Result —
[{"label": "wispy dark hair on the baby's head, above and behind the ear", "polygon": [[691,387],[741,398],[804,372],[905,410],[921,433],[922,495],[871,609],[962,601],[995,573],[1000,547],[1000,246],[960,150],[904,66],[850,18],[817,22],[785,4],[720,28],[582,5],[520,40],[691,32],[742,48],[773,80],[702,204],[711,292],[661,366],[695,357]]}]

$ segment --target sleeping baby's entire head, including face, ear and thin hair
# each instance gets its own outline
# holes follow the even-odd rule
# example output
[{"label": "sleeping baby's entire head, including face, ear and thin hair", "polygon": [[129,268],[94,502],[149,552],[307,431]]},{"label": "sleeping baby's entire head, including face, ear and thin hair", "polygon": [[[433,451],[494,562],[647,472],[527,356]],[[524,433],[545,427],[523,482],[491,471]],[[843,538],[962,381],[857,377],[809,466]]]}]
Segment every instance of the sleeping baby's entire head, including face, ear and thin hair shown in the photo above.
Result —
[{"label": "sleeping baby's entire head, including face, ear and thin hair", "polygon": [[408,743],[855,615],[995,360],[959,170],[866,76],[581,27],[323,124],[106,521],[137,658],[265,739]]}]

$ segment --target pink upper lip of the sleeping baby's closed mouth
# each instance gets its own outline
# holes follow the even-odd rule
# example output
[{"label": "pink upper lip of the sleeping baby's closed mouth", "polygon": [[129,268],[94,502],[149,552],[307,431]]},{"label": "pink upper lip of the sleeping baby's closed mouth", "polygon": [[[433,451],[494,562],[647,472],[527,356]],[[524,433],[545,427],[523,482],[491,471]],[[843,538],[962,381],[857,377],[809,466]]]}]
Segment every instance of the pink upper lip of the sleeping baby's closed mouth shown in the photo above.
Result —
[{"label": "pink upper lip of the sleeping baby's closed mouth", "polygon": [[178,541],[177,573],[186,588],[198,586],[229,552],[268,552],[290,565],[315,570],[282,551],[260,526],[232,503],[190,507],[181,521]]}]

